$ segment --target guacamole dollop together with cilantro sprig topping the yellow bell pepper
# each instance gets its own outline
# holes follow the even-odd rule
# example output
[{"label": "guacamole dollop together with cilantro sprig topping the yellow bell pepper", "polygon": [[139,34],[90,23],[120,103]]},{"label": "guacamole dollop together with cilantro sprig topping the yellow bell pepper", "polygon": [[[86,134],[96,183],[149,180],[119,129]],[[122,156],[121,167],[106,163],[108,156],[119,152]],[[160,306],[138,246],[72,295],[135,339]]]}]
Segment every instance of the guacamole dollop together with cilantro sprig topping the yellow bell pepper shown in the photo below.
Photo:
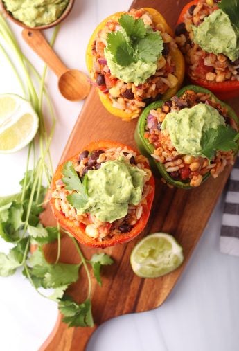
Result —
[{"label": "guacamole dollop together with cilantro sprig topping the yellow bell pepper", "polygon": [[139,85],[157,70],[162,55],[163,39],[159,31],[145,26],[143,19],[121,15],[121,28],[108,33],[105,58],[116,78]]}]

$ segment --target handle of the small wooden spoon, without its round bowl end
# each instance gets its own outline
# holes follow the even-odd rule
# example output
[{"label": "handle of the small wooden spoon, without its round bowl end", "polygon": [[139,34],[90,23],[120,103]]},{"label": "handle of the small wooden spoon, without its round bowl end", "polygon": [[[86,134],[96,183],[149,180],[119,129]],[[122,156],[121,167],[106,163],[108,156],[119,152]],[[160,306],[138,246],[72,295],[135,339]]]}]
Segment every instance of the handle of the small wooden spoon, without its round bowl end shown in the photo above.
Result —
[{"label": "handle of the small wooden spoon, without its round bowl end", "polygon": [[60,77],[67,67],[63,64],[60,58],[55,54],[51,46],[46,42],[46,39],[39,30],[24,29],[22,36],[27,44],[42,58],[48,67]]}]

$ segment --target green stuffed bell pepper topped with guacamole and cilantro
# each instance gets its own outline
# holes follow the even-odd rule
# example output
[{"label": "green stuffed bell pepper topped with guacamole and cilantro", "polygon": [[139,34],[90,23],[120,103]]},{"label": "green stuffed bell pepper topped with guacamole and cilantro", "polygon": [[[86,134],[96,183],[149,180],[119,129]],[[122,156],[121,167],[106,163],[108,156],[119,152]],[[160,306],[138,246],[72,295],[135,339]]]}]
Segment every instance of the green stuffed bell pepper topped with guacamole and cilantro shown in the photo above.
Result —
[{"label": "green stuffed bell pepper topped with guacamole and cilantro", "polygon": [[135,138],[163,182],[188,189],[233,165],[238,129],[231,107],[209,90],[188,85],[170,100],[146,107]]}]

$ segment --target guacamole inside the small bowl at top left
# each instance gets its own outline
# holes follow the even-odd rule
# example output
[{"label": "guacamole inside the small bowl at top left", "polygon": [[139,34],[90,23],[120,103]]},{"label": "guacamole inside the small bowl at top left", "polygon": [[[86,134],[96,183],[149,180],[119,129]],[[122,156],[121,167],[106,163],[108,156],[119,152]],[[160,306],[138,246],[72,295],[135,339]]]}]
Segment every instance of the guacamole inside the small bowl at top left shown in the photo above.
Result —
[{"label": "guacamole inside the small bowl at top left", "polygon": [[4,0],[6,10],[29,27],[44,26],[56,21],[69,0]]}]

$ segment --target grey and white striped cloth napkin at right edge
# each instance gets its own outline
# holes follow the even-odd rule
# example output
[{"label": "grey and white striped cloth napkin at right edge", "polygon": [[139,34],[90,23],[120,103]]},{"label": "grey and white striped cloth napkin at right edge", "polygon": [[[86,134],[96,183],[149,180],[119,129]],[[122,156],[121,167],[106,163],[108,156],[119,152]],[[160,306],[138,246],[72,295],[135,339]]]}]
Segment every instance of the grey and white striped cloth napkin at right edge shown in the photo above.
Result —
[{"label": "grey and white striped cloth napkin at right edge", "polygon": [[239,156],[229,179],[222,215],[220,251],[239,256]]}]

